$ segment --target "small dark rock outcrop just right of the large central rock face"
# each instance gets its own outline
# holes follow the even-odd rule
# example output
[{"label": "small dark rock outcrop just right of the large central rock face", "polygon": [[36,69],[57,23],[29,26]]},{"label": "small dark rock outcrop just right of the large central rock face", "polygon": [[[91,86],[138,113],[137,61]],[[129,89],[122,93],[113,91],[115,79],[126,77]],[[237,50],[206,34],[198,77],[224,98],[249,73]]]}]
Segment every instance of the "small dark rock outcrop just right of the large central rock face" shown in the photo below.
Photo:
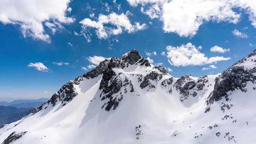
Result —
[{"label": "small dark rock outcrop just right of the large central rock face", "polygon": [[[159,78],[158,78],[159,77]],[[163,78],[163,74],[160,74],[158,72],[150,72],[147,74],[143,81],[140,83],[140,88],[144,89],[148,86],[149,89],[155,88],[155,85],[153,85],[150,80],[152,81],[159,81]]]}]

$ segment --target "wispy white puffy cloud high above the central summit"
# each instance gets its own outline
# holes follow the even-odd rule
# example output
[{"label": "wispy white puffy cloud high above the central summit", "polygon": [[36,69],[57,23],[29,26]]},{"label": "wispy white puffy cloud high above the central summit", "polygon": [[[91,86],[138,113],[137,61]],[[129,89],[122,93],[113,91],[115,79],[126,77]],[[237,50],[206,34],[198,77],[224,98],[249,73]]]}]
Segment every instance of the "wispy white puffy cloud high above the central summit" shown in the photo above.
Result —
[{"label": "wispy white puffy cloud high above the central summit", "polygon": [[[110,36],[116,36],[121,34],[123,31],[127,31],[128,33],[134,33],[138,30],[142,30],[146,28],[146,24],[140,25],[136,22],[134,25],[131,24],[129,18],[125,14],[116,14],[111,13],[110,15],[99,15],[97,21],[91,20],[90,18],[85,18],[80,21],[82,24],[82,33],[86,33],[88,28],[95,28],[96,35],[99,39],[106,39]],[[108,24],[106,26],[106,24]],[[111,25],[111,27],[109,26]],[[90,37],[90,35],[85,35]]]}]

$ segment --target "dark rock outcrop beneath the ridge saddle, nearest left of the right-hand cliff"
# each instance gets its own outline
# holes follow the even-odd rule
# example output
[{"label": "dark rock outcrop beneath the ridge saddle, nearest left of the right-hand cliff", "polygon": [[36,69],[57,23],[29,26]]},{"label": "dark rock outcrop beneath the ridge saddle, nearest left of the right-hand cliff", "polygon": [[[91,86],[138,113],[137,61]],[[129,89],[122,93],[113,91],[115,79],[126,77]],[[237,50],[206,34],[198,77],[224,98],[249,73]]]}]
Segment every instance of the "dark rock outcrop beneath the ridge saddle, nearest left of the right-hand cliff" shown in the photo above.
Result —
[{"label": "dark rock outcrop beneath the ridge saddle, nearest left of the right-hand cliff", "polygon": [[187,75],[182,76],[174,83],[174,87],[176,88],[176,90],[179,90],[180,94],[182,95],[180,97],[180,100],[182,102],[185,99],[188,99],[189,95],[192,95],[193,97],[197,95],[195,91],[193,93],[190,93],[190,90],[192,90],[195,86],[196,82]]}]

